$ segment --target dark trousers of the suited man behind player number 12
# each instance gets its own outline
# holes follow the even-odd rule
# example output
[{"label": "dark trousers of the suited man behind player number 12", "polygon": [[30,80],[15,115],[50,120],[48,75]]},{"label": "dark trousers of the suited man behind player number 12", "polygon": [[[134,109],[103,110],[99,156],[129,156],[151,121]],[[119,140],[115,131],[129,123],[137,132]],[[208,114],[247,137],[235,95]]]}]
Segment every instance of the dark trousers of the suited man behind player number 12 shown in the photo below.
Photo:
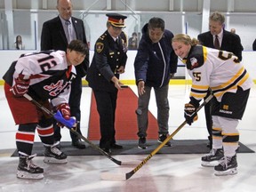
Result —
[{"label": "dark trousers of the suited man behind player number 12", "polygon": [[[81,110],[80,110],[80,104],[81,104],[81,95],[82,95],[82,79],[78,76],[72,81],[71,84],[71,92],[69,96],[69,107],[71,116],[76,116],[76,121],[81,121]],[[61,139],[61,133],[60,133],[60,127],[57,126],[56,122],[53,124],[54,127],[54,140],[60,140]],[[76,132],[81,133],[80,130],[80,123],[76,126]],[[71,140],[78,140],[78,137],[73,132],[70,132]]]}]

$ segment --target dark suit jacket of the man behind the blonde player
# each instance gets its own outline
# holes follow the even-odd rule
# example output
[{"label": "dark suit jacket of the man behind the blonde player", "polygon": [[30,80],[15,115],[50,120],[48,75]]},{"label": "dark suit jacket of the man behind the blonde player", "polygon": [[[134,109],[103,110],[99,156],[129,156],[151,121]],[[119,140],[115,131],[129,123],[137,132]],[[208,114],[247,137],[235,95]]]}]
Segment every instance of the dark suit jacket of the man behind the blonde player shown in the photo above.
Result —
[{"label": "dark suit jacket of the man behind the blonde player", "polygon": [[[213,45],[213,36],[210,31],[199,34],[197,36],[200,44],[214,48]],[[220,50],[233,52],[238,59],[242,60],[242,51],[244,50],[243,45],[241,44],[241,39],[236,34],[230,33],[229,31],[223,30],[222,43],[220,45]]]}]

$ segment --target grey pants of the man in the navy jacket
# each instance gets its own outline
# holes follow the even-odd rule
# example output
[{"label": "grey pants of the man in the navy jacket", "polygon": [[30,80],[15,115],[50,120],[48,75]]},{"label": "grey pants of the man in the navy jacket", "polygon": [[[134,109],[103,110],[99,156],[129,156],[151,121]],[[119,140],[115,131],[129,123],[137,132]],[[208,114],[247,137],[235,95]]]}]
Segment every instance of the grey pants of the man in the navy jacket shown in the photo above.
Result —
[{"label": "grey pants of the man in the navy jacket", "polygon": [[[150,100],[150,93],[152,87],[145,86],[145,93],[139,95],[137,114],[137,124],[139,137],[147,137],[148,130],[148,103]],[[157,124],[159,134],[168,134],[168,120],[169,120],[169,101],[168,101],[168,89],[169,85],[163,87],[154,87],[156,95],[156,107],[157,107]]]}]

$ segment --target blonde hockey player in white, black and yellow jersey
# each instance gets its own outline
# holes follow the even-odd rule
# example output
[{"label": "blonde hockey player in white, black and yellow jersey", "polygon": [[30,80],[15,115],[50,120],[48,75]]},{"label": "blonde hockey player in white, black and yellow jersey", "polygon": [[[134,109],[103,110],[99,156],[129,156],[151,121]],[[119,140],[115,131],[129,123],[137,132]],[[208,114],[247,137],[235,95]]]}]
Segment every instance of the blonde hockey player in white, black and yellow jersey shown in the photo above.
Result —
[{"label": "blonde hockey player in white, black and yellow jersey", "polygon": [[174,52],[186,64],[192,78],[190,101],[185,104],[187,123],[196,120],[196,108],[212,89],[212,150],[202,157],[203,166],[214,166],[215,175],[236,174],[236,127],[244,115],[252,79],[232,52],[196,45],[184,34],[172,38]]}]

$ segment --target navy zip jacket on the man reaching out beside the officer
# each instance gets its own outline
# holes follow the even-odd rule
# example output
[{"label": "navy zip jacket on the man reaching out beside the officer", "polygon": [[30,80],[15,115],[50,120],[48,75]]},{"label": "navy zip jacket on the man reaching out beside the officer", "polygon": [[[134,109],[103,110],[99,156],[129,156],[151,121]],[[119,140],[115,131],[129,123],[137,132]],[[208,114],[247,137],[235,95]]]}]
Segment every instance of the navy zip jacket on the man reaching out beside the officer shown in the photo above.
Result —
[{"label": "navy zip jacket on the man reaching out beside the officer", "polygon": [[134,60],[136,84],[140,80],[152,87],[169,84],[171,74],[177,72],[178,63],[178,57],[172,50],[172,37],[172,32],[165,29],[161,40],[153,44],[148,36],[148,24],[142,28],[142,37]]}]

